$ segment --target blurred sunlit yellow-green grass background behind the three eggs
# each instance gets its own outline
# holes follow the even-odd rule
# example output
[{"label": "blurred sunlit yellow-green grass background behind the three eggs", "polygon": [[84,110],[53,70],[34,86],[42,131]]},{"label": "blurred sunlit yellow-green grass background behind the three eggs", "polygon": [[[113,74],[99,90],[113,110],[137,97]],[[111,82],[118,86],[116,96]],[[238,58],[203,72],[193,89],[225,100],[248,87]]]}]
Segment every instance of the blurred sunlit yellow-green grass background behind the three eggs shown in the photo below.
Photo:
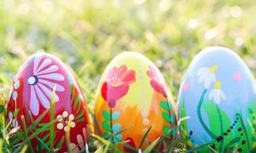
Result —
[{"label": "blurred sunlit yellow-green grass background behind the three eggs", "polygon": [[26,58],[45,51],[76,74],[88,102],[108,62],[138,51],[160,68],[177,99],[189,62],[201,49],[236,51],[256,74],[256,5],[244,1],[1,0],[0,92]]}]

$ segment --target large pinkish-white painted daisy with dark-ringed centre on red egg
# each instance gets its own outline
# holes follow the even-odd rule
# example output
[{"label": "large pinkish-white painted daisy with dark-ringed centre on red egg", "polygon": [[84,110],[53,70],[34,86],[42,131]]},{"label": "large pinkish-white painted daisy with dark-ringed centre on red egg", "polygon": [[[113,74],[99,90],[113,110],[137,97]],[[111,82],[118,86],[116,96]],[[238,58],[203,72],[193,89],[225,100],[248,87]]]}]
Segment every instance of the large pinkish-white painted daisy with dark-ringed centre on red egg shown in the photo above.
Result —
[{"label": "large pinkish-white painted daisy with dark-ringed centre on red egg", "polygon": [[[59,67],[52,65],[52,59],[46,58],[42,62],[41,59],[42,55],[35,56],[32,76],[27,79],[31,88],[30,110],[34,116],[38,116],[39,103],[45,109],[49,109],[49,101],[54,88],[57,92],[65,90],[60,83],[56,83],[65,80],[61,74],[56,73]],[[55,94],[55,102],[58,101],[59,96]]]}]

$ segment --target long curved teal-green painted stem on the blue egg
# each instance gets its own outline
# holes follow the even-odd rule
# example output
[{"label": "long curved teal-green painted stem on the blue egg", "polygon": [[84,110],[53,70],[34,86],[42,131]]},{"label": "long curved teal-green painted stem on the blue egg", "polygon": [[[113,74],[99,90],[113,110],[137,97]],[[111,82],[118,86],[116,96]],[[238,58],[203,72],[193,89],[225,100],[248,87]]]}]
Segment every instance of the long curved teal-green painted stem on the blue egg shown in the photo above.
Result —
[{"label": "long curved teal-green painted stem on the blue egg", "polygon": [[212,131],[207,127],[206,123],[203,121],[203,119],[201,117],[201,105],[204,101],[204,97],[205,97],[206,93],[207,93],[207,89],[205,89],[203,91],[203,93],[201,94],[201,98],[200,98],[199,103],[197,105],[197,116],[198,116],[199,122],[201,123],[201,126],[204,127],[204,129],[212,137],[212,139],[217,139],[217,136],[214,133],[212,133]]}]

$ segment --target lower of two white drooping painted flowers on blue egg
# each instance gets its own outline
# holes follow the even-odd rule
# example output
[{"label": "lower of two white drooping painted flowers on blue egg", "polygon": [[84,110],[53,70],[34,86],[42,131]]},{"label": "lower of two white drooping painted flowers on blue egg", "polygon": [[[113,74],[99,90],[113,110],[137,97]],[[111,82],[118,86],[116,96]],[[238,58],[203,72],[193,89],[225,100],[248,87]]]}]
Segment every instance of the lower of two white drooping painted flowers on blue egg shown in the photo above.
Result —
[{"label": "lower of two white drooping painted flowers on blue egg", "polygon": [[221,86],[221,82],[215,82],[214,88],[209,94],[209,99],[213,99],[216,104],[219,104],[222,99],[226,99],[226,96],[222,91]]}]

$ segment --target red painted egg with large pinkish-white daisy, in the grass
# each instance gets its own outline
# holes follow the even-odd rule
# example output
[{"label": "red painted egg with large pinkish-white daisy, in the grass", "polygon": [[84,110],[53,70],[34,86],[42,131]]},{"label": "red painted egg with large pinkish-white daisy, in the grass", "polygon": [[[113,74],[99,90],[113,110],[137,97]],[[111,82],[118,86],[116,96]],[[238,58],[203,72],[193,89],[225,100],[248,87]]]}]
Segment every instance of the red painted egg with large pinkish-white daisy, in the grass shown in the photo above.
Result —
[{"label": "red painted egg with large pinkish-white daisy, in the grass", "polygon": [[[51,108],[54,109],[49,111]],[[46,125],[52,121],[51,113],[54,113],[55,120],[55,149],[67,151],[65,136],[70,133],[70,149],[75,152],[82,150],[88,142],[90,127],[87,105],[79,83],[60,59],[50,54],[34,54],[20,66],[14,78],[7,122],[11,121],[10,127],[20,126],[21,130],[24,130],[21,117],[24,117],[26,127],[38,122],[29,135],[44,128],[44,132],[38,134],[42,142],[32,139],[32,147],[36,152],[45,151],[45,148],[49,148],[49,126]]]}]

